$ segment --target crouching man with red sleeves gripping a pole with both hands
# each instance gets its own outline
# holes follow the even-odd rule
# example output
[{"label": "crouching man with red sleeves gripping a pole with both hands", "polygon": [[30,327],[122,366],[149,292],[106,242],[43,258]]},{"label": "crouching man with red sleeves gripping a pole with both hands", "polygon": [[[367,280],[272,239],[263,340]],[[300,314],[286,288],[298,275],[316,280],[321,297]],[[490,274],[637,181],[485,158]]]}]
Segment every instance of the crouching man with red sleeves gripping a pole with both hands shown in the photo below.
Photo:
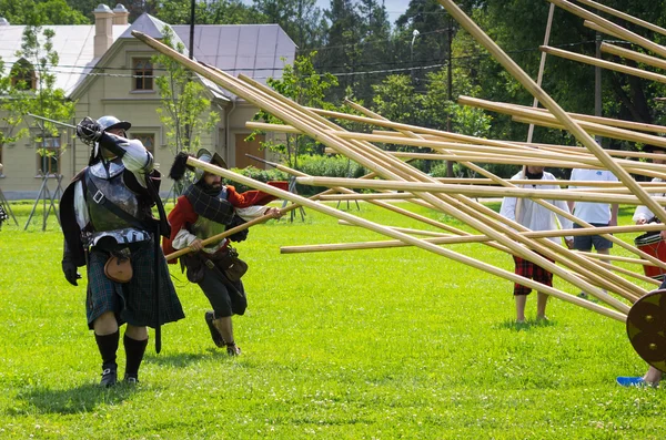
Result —
[{"label": "crouching man with red sleeves gripping a pole with both hands", "polygon": [[[186,156],[184,156],[186,160]],[[196,154],[200,161],[226,167],[224,160],[218,153],[200,150]],[[176,162],[178,162],[176,157]],[[174,168],[176,163],[174,163]],[[181,173],[171,171],[175,180]],[[184,170],[183,170],[184,172]],[[203,246],[202,242],[223,233],[228,227],[234,227],[246,221],[270,215],[278,218],[282,215],[276,207],[263,206],[275,197],[259,191],[238,193],[233,186],[222,184],[219,175],[194,170],[194,182],[188,186],[182,196],[169,213],[171,238],[163,241],[164,254],[174,249],[190,247],[192,252],[181,257],[181,267],[186,267],[188,279],[199,284],[208,297],[213,310],[205,313],[205,321],[211,331],[213,342],[226,347],[230,356],[238,356],[241,349],[233,336],[231,317],[243,315],[248,307],[248,298],[240,277],[229,275],[229,255],[235,255],[230,241],[222,238]],[[178,174],[178,175],[174,175]],[[286,182],[269,182],[286,191]],[[233,234],[232,242],[244,241],[248,229]],[[175,263],[170,260],[169,263]],[[233,263],[232,263],[233,264]]]}]

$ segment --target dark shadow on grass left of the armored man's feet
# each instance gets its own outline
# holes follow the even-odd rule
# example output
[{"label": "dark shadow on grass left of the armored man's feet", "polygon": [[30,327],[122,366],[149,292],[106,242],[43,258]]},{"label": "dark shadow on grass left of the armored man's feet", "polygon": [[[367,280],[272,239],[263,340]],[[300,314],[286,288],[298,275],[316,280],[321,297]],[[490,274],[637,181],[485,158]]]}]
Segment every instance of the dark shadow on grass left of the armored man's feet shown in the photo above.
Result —
[{"label": "dark shadow on grass left of the armored man's feet", "polygon": [[98,383],[87,383],[71,389],[31,389],[17,395],[17,400],[22,400],[27,405],[17,405],[17,407],[8,409],[8,412],[13,416],[27,416],[33,415],[36,408],[44,413],[90,412],[100,405],[122,402],[138,391],[137,387],[135,385],[119,383],[115,387],[102,388]]}]

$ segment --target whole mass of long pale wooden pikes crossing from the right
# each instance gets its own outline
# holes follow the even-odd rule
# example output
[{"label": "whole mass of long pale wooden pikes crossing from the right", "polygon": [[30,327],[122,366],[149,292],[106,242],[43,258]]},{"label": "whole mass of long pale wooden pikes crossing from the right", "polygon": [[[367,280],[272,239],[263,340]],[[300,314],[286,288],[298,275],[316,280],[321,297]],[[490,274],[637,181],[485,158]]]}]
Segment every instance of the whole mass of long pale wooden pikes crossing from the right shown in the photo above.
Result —
[{"label": "whole mass of long pale wooden pikes crossing from the right", "polygon": [[[521,142],[501,142],[483,140],[461,134],[448,133],[420,126],[412,126],[387,121],[379,114],[354,104],[349,103],[357,112],[363,114],[349,115],[343,113],[333,113],[317,109],[305,108],[294,103],[284,96],[278,94],[271,89],[256,81],[240,75],[234,78],[218,69],[208,66],[189,60],[182,54],[161,44],[160,42],[144,35],[141,32],[133,32],[134,37],[145,42],[148,45],[171,57],[173,60],[195,71],[196,73],[215,82],[220,86],[255,104],[256,106],[270,112],[284,122],[285,125],[269,125],[260,123],[249,123],[248,126],[265,131],[278,131],[287,133],[302,133],[317,142],[323,143],[336,154],[344,155],[352,161],[363,165],[372,171],[371,174],[362,178],[323,178],[307,176],[284,165],[274,164],[278,168],[291,173],[297,177],[297,182],[317,186],[329,186],[331,190],[313,196],[311,198],[278,190],[275,187],[244,177],[229,170],[219,168],[214,165],[203,163],[195,158],[189,158],[189,164],[203,168],[208,172],[221,175],[223,177],[240,182],[248,186],[264,191],[283,199],[293,202],[293,205],[284,211],[296,206],[310,207],[314,211],[336,217],[345,223],[361,226],[393,238],[393,241],[361,243],[361,244],[337,244],[309,247],[289,247],[283,252],[315,252],[333,249],[355,249],[371,247],[393,247],[393,246],[417,246],[424,250],[451,258],[453,260],[466,264],[476,269],[486,272],[512,282],[516,282],[551,296],[585,307],[592,311],[604,316],[625,321],[629,313],[630,304],[634,304],[646,294],[646,289],[629,282],[626,277],[619,276],[616,272],[633,276],[643,282],[658,284],[654,279],[643,277],[636,273],[625,270],[608,264],[597,262],[592,255],[575,253],[557,245],[547,237],[565,235],[597,235],[610,239],[618,246],[636,254],[639,258],[617,258],[633,263],[643,263],[658,266],[666,269],[666,265],[652,255],[626,244],[624,241],[609,235],[610,233],[660,231],[662,225],[644,226],[623,226],[593,228],[589,224],[582,224],[582,229],[554,231],[554,232],[532,232],[524,226],[500,216],[493,209],[478,203],[474,197],[528,197],[533,201],[547,206],[557,214],[565,215],[573,219],[568,213],[557,209],[546,199],[567,199],[567,201],[594,201],[613,202],[634,205],[646,205],[657,217],[666,224],[666,212],[662,204],[665,199],[653,198],[648,195],[654,192],[664,192],[663,184],[637,183],[629,173],[642,174],[653,177],[665,177],[666,166],[637,162],[628,160],[632,154],[627,152],[620,154],[623,158],[616,158],[603,150],[588,134],[589,132],[602,133],[604,135],[634,136],[620,137],[630,139],[635,142],[645,142],[656,145],[666,145],[663,139],[645,133],[638,133],[634,130],[644,130],[659,132],[666,129],[657,126],[646,126],[637,129],[636,126],[617,126],[617,123],[602,120],[587,120],[579,115],[571,115],[564,112],[553,99],[551,99],[525,72],[521,70],[476,24],[466,17],[451,0],[440,0],[448,12],[465,28],[477,41],[484,45],[493,57],[501,62],[545,108],[546,110],[532,110],[509,104],[488,103],[482,100],[463,98],[465,104],[485,106],[492,110],[512,111],[517,116],[527,117],[543,124],[557,124],[568,130],[583,147],[558,146],[558,145],[534,145]],[[568,8],[568,2],[563,0],[549,0],[553,3]],[[575,7],[574,7],[575,8]],[[596,16],[595,16],[596,17]],[[587,18],[587,17],[586,17]],[[589,21],[596,19],[587,18]],[[603,19],[602,19],[603,20]],[[599,24],[602,25],[602,24]],[[616,29],[613,24],[603,24],[619,35],[625,32]],[[666,49],[666,48],[663,48]],[[652,50],[652,49],[650,49]],[[356,122],[363,122],[376,127],[391,129],[393,131],[374,131],[373,133],[352,133],[337,126],[330,119],[351,119]],[[597,132],[596,130],[599,130]],[[610,133],[610,134],[609,134]],[[414,145],[432,149],[428,154],[415,153],[392,153],[384,151],[374,143],[394,143],[402,145]],[[634,153],[634,156],[650,157],[648,153]],[[483,178],[474,180],[436,180],[423,172],[414,168],[404,158],[424,157],[432,160],[455,161],[466,167],[475,171]],[[507,181],[487,172],[477,163],[509,163],[509,164],[544,164],[557,167],[587,167],[606,168],[612,171],[618,178],[618,184],[606,184],[602,186],[598,183],[577,182],[577,185],[594,187],[594,190],[584,191],[544,191],[525,190],[517,185],[524,181]],[[381,177],[382,180],[376,180]],[[534,181],[531,181],[534,183]],[[552,182],[549,182],[552,183]],[[567,185],[569,182],[561,182]],[[595,186],[596,185],[596,186]],[[376,194],[361,195],[352,188],[372,188]],[[404,193],[397,193],[404,192]],[[435,226],[442,229],[442,233],[432,233],[420,229],[403,229],[380,225],[367,219],[354,216],[350,213],[337,211],[326,204],[320,203],[322,199],[341,199],[343,197],[365,198],[369,203],[384,207],[394,213],[406,215],[423,222],[426,225]],[[441,213],[463,222],[477,233],[471,234],[460,228],[446,225],[442,222],[415,215],[407,209],[401,208],[383,201],[383,198],[405,198],[410,202],[436,209]],[[576,219],[581,224],[581,221]],[[233,234],[234,228],[225,235]],[[421,238],[425,237],[425,238]],[[219,239],[219,237],[215,237]],[[442,245],[454,243],[480,243],[484,246],[501,249],[503,252],[519,256],[531,260],[556,276],[573,284],[578,289],[597,297],[603,304],[594,304],[581,299],[563,290],[555,289],[535,283],[531,279],[515,275],[500,267],[480,262],[467,255],[454,252]],[[170,256],[172,257],[172,256]],[[549,259],[557,262],[552,263]],[[608,293],[610,294],[608,294]]]}]

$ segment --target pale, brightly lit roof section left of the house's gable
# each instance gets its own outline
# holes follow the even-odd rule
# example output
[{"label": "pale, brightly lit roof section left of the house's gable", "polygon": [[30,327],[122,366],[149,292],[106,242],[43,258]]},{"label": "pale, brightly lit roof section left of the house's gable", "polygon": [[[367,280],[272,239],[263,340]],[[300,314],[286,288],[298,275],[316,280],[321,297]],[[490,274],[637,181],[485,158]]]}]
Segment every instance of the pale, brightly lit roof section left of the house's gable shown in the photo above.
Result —
[{"label": "pale, brightly lit roof section left of the house's gable", "polygon": [[[113,41],[128,28],[128,24],[114,24]],[[9,74],[18,61],[16,51],[21,47],[24,29],[24,25],[0,25],[0,57],[4,61],[4,74]],[[94,24],[44,25],[43,29],[56,32],[53,50],[60,60],[52,72],[56,73],[56,88],[69,95],[99,60],[93,58]]]}]

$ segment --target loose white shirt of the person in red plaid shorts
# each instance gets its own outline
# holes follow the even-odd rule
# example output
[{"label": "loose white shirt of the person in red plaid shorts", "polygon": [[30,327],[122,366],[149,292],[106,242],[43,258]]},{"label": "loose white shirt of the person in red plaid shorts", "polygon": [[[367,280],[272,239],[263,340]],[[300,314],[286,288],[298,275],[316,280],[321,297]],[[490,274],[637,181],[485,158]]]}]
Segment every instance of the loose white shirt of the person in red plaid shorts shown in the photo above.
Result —
[{"label": "loose white shirt of the person in red plaid shorts", "polygon": [[[518,173],[512,177],[512,180],[523,178],[523,173]],[[544,176],[542,181],[555,181],[555,176],[551,173],[544,171]],[[533,188],[536,185],[521,185],[524,188]],[[538,185],[539,190],[561,190],[559,185]],[[544,201],[551,203],[562,211],[569,212],[568,206],[565,201]],[[504,197],[502,201],[502,207],[500,208],[500,214],[506,218],[509,218],[514,222],[518,222],[521,225],[527,227],[531,231],[554,231],[557,229],[556,217],[559,219],[559,224],[563,229],[571,229],[573,227],[572,221],[562,216],[555,215],[554,212],[548,209],[545,206],[542,206],[529,198],[523,198],[521,202],[521,209],[518,213],[518,218],[516,219],[516,197]],[[571,237],[566,237],[567,239]],[[548,237],[551,242],[562,244],[562,239],[559,237]]]}]

